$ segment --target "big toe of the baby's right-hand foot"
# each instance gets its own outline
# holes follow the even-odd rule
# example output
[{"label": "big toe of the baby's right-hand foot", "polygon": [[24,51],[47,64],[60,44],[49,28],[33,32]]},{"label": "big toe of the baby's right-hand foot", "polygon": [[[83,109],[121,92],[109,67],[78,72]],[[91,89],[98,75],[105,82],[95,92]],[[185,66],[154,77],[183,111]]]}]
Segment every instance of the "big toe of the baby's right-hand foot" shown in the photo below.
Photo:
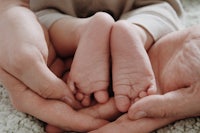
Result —
[{"label": "big toe of the baby's right-hand foot", "polygon": [[115,102],[118,110],[121,112],[127,112],[131,105],[130,99],[124,95],[115,96]]}]

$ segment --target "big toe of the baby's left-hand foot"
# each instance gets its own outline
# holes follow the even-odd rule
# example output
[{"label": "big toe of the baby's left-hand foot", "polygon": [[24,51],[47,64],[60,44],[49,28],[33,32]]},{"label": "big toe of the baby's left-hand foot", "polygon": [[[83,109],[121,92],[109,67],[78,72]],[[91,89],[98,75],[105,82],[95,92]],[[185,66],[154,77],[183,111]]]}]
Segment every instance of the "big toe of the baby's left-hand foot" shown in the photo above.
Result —
[{"label": "big toe of the baby's left-hand foot", "polygon": [[105,103],[109,99],[107,91],[97,91],[94,93],[94,97],[98,103]]}]

